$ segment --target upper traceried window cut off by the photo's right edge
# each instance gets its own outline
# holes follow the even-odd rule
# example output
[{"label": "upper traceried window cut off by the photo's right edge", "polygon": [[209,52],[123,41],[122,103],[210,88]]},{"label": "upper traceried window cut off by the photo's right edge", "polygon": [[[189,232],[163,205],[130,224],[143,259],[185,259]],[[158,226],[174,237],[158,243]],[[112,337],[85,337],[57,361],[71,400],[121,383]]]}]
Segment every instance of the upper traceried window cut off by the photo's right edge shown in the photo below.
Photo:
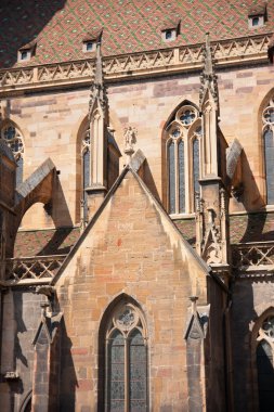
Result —
[{"label": "upper traceried window cut off by the photo's right edge", "polygon": [[266,204],[274,204],[274,96],[262,114]]}]

